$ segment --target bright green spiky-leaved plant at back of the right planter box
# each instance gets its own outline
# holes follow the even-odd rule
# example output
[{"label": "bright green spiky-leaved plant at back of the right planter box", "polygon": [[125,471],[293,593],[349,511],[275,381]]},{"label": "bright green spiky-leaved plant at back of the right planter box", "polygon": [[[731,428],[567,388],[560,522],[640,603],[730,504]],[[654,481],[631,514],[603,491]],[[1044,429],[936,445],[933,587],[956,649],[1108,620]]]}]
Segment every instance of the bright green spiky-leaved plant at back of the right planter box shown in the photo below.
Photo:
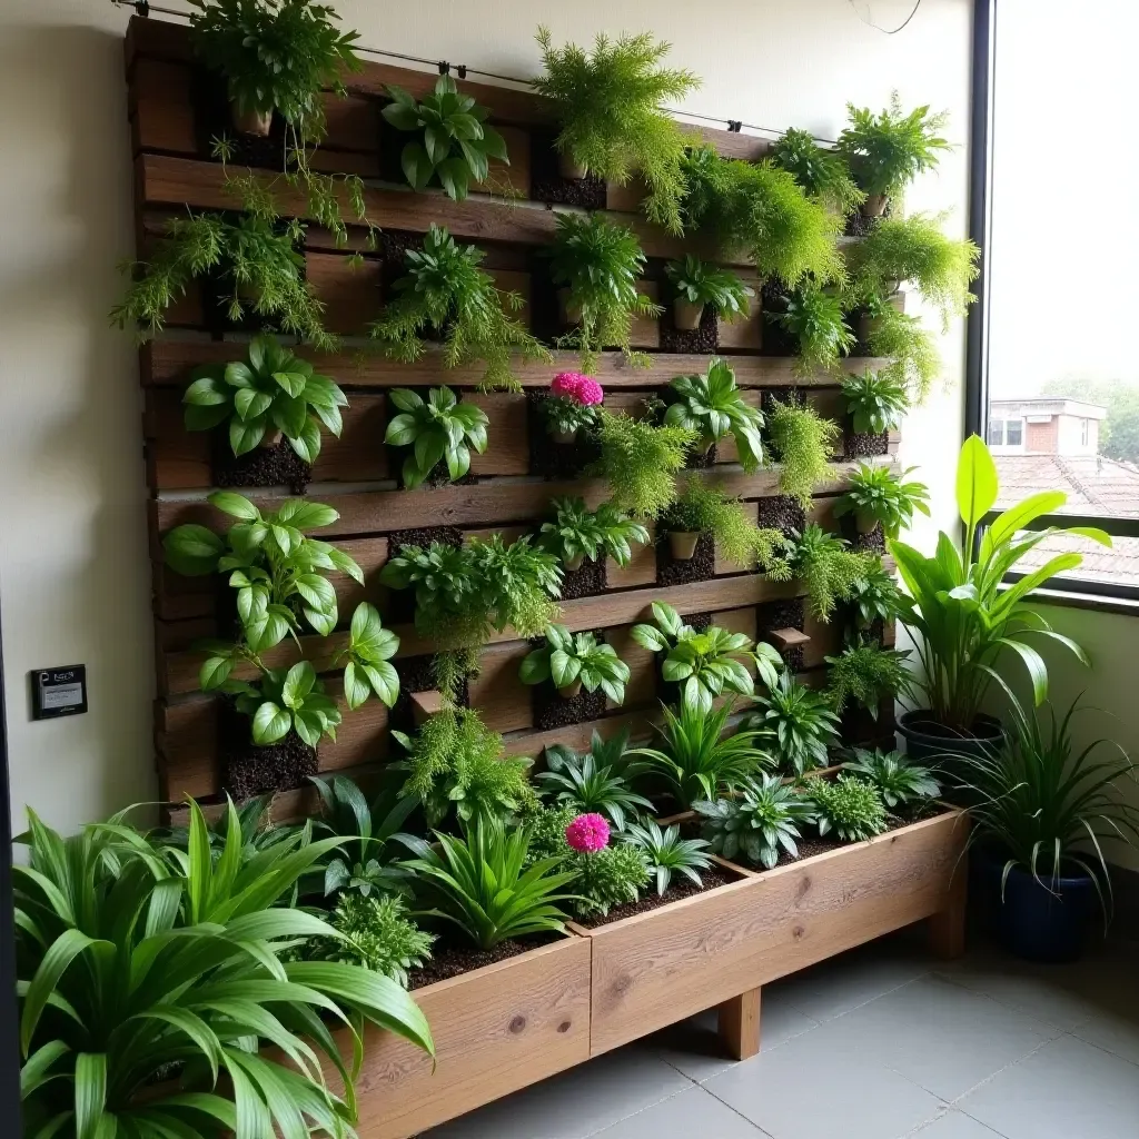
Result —
[{"label": "bright green spiky-leaved plant at back of the right planter box", "polygon": [[630,754],[640,756],[687,810],[699,800],[734,790],[773,762],[756,746],[760,730],[741,727],[723,735],[730,715],[728,704],[710,711],[687,704],[679,712],[665,707],[663,723],[654,726],[661,746],[637,747]]}]

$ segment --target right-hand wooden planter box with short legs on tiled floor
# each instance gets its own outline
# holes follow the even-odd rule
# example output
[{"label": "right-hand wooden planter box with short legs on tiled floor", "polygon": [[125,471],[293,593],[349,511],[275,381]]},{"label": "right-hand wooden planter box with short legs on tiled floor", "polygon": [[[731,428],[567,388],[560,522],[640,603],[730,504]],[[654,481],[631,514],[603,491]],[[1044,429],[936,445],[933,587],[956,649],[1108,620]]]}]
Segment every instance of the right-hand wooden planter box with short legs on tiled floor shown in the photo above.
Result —
[{"label": "right-hand wooden planter box with short legs on tiled floor", "polygon": [[[967,822],[953,810],[595,929],[590,1056],[719,1006],[737,1058],[760,1041],[760,989],[929,918],[961,951]],[[575,927],[576,928],[576,927]]]}]

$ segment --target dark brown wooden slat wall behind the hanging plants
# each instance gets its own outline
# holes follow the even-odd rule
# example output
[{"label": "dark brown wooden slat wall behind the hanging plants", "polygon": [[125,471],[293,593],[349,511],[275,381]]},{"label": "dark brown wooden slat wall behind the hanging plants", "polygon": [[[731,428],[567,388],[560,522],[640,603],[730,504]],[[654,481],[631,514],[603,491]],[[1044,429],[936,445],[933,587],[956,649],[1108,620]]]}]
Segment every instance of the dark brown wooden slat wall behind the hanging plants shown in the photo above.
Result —
[{"label": "dark brown wooden slat wall behind the hanging plants", "polygon": [[[140,256],[162,232],[164,219],[185,207],[194,210],[229,208],[231,200],[223,188],[221,166],[198,150],[199,131],[195,122],[194,67],[187,30],[178,24],[134,18],[126,36],[126,67],[130,84],[129,113],[134,154],[137,229]],[[346,76],[350,96],[325,100],[328,136],[317,151],[317,169],[335,173],[355,173],[369,180],[369,218],[385,229],[426,231],[431,222],[449,227],[461,240],[474,241],[485,253],[484,267],[499,288],[518,293],[524,300],[519,319],[530,321],[540,271],[534,253],[549,244],[556,223],[556,210],[541,203],[521,200],[506,204],[484,194],[473,194],[467,202],[453,203],[437,192],[416,195],[405,186],[379,181],[382,107],[385,87],[398,83],[421,96],[431,90],[435,75],[367,62],[359,75]],[[495,175],[509,177],[523,192],[528,192],[533,161],[534,129],[552,125],[549,106],[541,98],[506,88],[460,82],[460,87],[491,109],[491,121],[501,130],[510,151],[510,166]],[[707,128],[691,128],[695,134],[722,154],[746,159],[763,156],[764,140]],[[272,175],[267,172],[267,178]],[[305,203],[288,187],[274,187],[285,213],[303,216]],[[644,188],[636,183],[609,187],[607,212],[632,227],[648,254],[649,271],[645,292],[656,297],[663,262],[682,252],[741,264],[699,240],[681,239],[652,227],[640,214]],[[331,236],[310,226],[305,237],[306,277],[325,302],[327,325],[334,333],[358,336],[382,311],[385,272],[379,252],[367,251],[363,264],[350,264],[346,253],[362,251],[363,231],[350,227],[346,249],[337,249]],[[390,267],[388,267],[390,268]],[[754,270],[740,269],[753,286]],[[756,292],[759,289],[756,288]],[[818,374],[797,376],[787,358],[763,355],[763,318],[756,312],[738,325],[722,325],[720,353],[730,358],[748,402],[759,404],[763,391],[795,386],[825,415],[839,416],[839,378]],[[213,483],[211,440],[204,433],[188,433],[182,426],[181,396],[190,371],[199,364],[224,363],[241,355],[240,341],[247,334],[219,331],[206,317],[205,297],[197,287],[175,304],[167,319],[167,330],[144,345],[139,353],[140,379],[145,393],[142,419],[147,483],[150,492],[149,526],[154,560],[154,612],[156,628],[159,697],[155,703],[155,748],[162,794],[172,802],[186,795],[211,796],[223,788],[218,764],[218,727],[213,702],[197,691],[200,656],[194,644],[214,636],[218,628],[218,590],[203,579],[186,579],[170,571],[162,559],[162,535],[172,526],[198,522],[224,530],[228,519],[205,501]],[[646,396],[658,393],[672,378],[704,371],[708,358],[659,352],[657,321],[638,321],[634,343],[654,352],[644,370],[628,368],[617,353],[605,353],[598,378],[607,391],[612,408],[638,413]],[[361,342],[357,342],[361,343]],[[313,469],[309,494],[339,511],[339,519],[320,536],[335,540],[364,570],[367,584],[347,577],[334,579],[342,617],[351,615],[363,599],[376,604],[387,620],[388,591],[378,584],[378,574],[393,552],[390,535],[423,526],[456,526],[466,536],[486,536],[502,531],[508,536],[533,531],[547,516],[551,498],[577,494],[591,506],[607,497],[596,480],[551,482],[531,470],[531,441],[527,401],[524,394],[480,394],[475,387],[481,369],[446,370],[437,349],[428,349],[412,364],[395,364],[375,353],[354,346],[331,353],[301,350],[318,370],[333,377],[345,390],[350,407],[344,415],[339,439],[325,436],[321,454]],[[525,388],[544,388],[558,370],[575,369],[576,355],[556,352],[555,362],[522,364],[518,376]],[[847,371],[878,367],[880,361],[852,359]],[[490,417],[489,448],[475,457],[475,482],[413,492],[398,489],[398,470],[383,445],[384,431],[392,413],[387,388],[425,388],[446,384],[461,398],[482,407]],[[876,461],[892,461],[896,449],[892,436],[891,454]],[[852,464],[836,456],[831,477],[818,489],[820,495],[841,493]],[[712,472],[726,490],[740,495],[752,511],[761,499],[777,493],[778,470],[744,474],[737,464],[734,444],[718,448]],[[268,509],[278,503],[279,491],[254,490],[251,498]],[[825,525],[833,526],[827,499],[820,498],[812,511]],[[510,754],[536,755],[556,740],[582,747],[596,729],[609,735],[630,728],[637,738],[649,731],[661,696],[656,663],[632,640],[632,625],[648,616],[653,600],[664,599],[687,615],[711,613],[724,628],[762,637],[756,606],[801,593],[797,583],[775,584],[737,567],[718,555],[715,576],[708,581],[662,588],[656,584],[657,566],[652,544],[639,549],[626,567],[608,566],[608,589],[596,597],[565,603],[562,620],[576,630],[600,629],[632,671],[625,705],[611,707],[604,719],[574,724],[557,731],[535,728],[533,693],[518,679],[518,665],[530,646],[507,630],[495,636],[482,652],[482,671],[472,681],[470,698],[481,708],[486,723],[501,731]],[[391,623],[391,622],[390,622]],[[401,637],[398,656],[429,653],[432,646],[409,625],[394,625]],[[811,640],[804,647],[804,679],[821,682],[823,658],[839,647],[836,626],[806,621]],[[343,644],[344,634],[327,639],[305,639],[304,650],[318,669],[329,671],[329,687],[338,695],[330,655]],[[892,638],[891,638],[892,639]],[[295,648],[280,647],[269,656],[284,663]],[[388,719],[386,708],[375,700],[355,713],[345,710],[344,724],[335,743],[319,749],[321,770],[367,771],[388,759]],[[314,804],[304,792],[280,796],[278,814],[295,817]]]}]

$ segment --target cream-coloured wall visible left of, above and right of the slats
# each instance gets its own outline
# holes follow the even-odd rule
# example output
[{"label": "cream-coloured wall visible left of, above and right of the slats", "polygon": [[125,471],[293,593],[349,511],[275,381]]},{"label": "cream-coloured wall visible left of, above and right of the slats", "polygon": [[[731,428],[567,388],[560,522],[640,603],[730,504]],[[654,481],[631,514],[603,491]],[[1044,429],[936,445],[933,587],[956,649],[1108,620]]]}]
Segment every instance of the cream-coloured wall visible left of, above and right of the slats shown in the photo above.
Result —
[{"label": "cream-coloured wall visible left of, above and right of the slats", "polygon": [[[171,2],[171,0],[167,0]],[[172,0],[177,6],[178,0]],[[859,0],[885,27],[910,0]],[[555,38],[650,30],[705,79],[689,109],[834,138],[847,99],[951,113],[968,132],[968,0],[926,0],[907,30],[863,24],[847,0],[342,0],[362,42],[505,74],[538,67],[539,21]],[[130,155],[121,36],[104,0],[0,5],[0,607],[13,802],[65,829],[153,796],[149,571],[137,366],[107,327],[129,256]],[[965,228],[967,149],[910,195]],[[906,425],[902,458],[952,521],[961,427],[959,326],[944,341],[947,391]],[[27,671],[84,662],[91,711],[32,723]]]}]

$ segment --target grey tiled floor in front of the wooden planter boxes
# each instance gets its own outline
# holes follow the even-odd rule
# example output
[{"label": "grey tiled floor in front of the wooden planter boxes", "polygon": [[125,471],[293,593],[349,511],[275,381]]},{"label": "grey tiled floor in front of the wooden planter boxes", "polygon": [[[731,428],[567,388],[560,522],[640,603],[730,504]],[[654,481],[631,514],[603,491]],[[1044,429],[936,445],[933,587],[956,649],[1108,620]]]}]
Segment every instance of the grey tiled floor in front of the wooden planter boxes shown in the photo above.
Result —
[{"label": "grey tiled floor in front of the wooden planter boxes", "polygon": [[900,935],[765,988],[754,1059],[705,1016],[421,1139],[1139,1139],[1137,965],[945,965]]}]

